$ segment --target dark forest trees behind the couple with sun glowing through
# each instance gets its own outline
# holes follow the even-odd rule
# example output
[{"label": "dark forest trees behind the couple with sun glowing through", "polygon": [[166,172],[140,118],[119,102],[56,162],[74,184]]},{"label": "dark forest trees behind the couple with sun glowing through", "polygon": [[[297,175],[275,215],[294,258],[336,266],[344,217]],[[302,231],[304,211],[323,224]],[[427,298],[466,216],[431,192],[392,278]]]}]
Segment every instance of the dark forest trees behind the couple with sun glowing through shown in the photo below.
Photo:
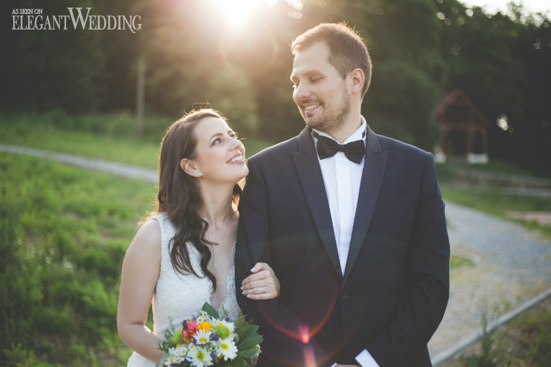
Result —
[{"label": "dark forest trees behind the couple with sun glowing through", "polygon": [[[362,112],[384,134],[434,151],[435,107],[460,88],[490,121],[488,154],[551,171],[551,21],[510,4],[485,14],[455,0],[3,1],[2,112],[136,111],[145,61],[145,126],[160,138],[195,103],[222,111],[247,139],[291,138],[304,123],[291,98],[293,38],[346,21],[366,39],[373,81]],[[141,29],[14,30],[12,10],[139,15]],[[495,122],[505,118],[507,123]],[[108,120],[105,122],[110,123]],[[147,121],[146,121],[147,125]]]}]

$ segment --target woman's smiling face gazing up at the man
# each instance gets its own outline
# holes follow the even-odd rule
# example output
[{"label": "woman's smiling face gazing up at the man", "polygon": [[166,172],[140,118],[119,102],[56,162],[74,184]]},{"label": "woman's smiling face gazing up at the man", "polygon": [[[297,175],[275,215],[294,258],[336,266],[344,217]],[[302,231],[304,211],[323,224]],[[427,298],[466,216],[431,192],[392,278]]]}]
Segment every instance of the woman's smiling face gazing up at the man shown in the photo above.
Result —
[{"label": "woman's smiling face gazing up at the man", "polygon": [[197,138],[196,158],[192,161],[202,179],[235,184],[247,174],[245,147],[225,120],[205,117],[194,129]]}]

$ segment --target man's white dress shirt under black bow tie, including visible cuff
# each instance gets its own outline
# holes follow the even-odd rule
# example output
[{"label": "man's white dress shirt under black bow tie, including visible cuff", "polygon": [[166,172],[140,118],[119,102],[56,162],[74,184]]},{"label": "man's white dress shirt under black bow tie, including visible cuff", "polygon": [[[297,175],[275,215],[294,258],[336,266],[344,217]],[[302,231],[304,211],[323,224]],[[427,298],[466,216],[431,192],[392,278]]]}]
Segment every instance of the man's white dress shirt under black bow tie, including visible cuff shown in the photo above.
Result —
[{"label": "man's white dress shirt under black bow tie, including visible cuff", "polygon": [[[363,116],[362,125],[342,143],[347,144],[355,140],[366,141],[366,120]],[[315,130],[320,136],[326,136],[333,139],[328,134]],[[318,139],[312,136],[314,145],[318,146]],[[333,139],[335,140],[335,139]],[[346,269],[346,259],[349,256],[350,240],[352,237],[352,227],[357,207],[357,197],[360,194],[360,182],[362,182],[362,173],[364,171],[365,156],[360,164],[352,162],[344,155],[344,152],[337,153],[329,158],[320,159],[323,182],[327,200],[329,201],[329,210],[331,211],[331,220],[333,221],[333,231],[335,232],[335,241],[337,242],[337,253],[339,255],[340,269],[344,275]],[[362,367],[379,367],[371,354],[364,349],[356,356],[356,361]]]}]

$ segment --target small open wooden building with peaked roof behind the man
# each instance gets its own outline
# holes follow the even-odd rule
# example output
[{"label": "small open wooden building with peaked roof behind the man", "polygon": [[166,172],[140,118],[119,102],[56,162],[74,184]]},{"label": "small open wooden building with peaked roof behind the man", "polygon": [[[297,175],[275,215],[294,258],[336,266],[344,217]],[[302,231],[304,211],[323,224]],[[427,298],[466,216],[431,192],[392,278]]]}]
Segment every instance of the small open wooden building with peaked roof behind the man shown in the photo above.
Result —
[{"label": "small open wooden building with peaked roof behind the man", "polygon": [[436,116],[439,125],[437,161],[488,162],[490,124],[463,91],[453,90],[446,95],[436,108]]}]

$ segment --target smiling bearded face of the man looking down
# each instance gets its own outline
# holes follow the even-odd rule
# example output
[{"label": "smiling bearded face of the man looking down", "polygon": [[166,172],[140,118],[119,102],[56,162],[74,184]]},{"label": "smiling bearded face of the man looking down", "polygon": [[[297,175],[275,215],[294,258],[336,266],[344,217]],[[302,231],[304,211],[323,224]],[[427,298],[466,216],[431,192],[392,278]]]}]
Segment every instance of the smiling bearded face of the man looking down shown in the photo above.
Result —
[{"label": "smiling bearded face of the man looking down", "polygon": [[297,52],[291,73],[293,100],[306,125],[330,135],[344,125],[351,109],[347,78],[329,63],[324,42]]}]

